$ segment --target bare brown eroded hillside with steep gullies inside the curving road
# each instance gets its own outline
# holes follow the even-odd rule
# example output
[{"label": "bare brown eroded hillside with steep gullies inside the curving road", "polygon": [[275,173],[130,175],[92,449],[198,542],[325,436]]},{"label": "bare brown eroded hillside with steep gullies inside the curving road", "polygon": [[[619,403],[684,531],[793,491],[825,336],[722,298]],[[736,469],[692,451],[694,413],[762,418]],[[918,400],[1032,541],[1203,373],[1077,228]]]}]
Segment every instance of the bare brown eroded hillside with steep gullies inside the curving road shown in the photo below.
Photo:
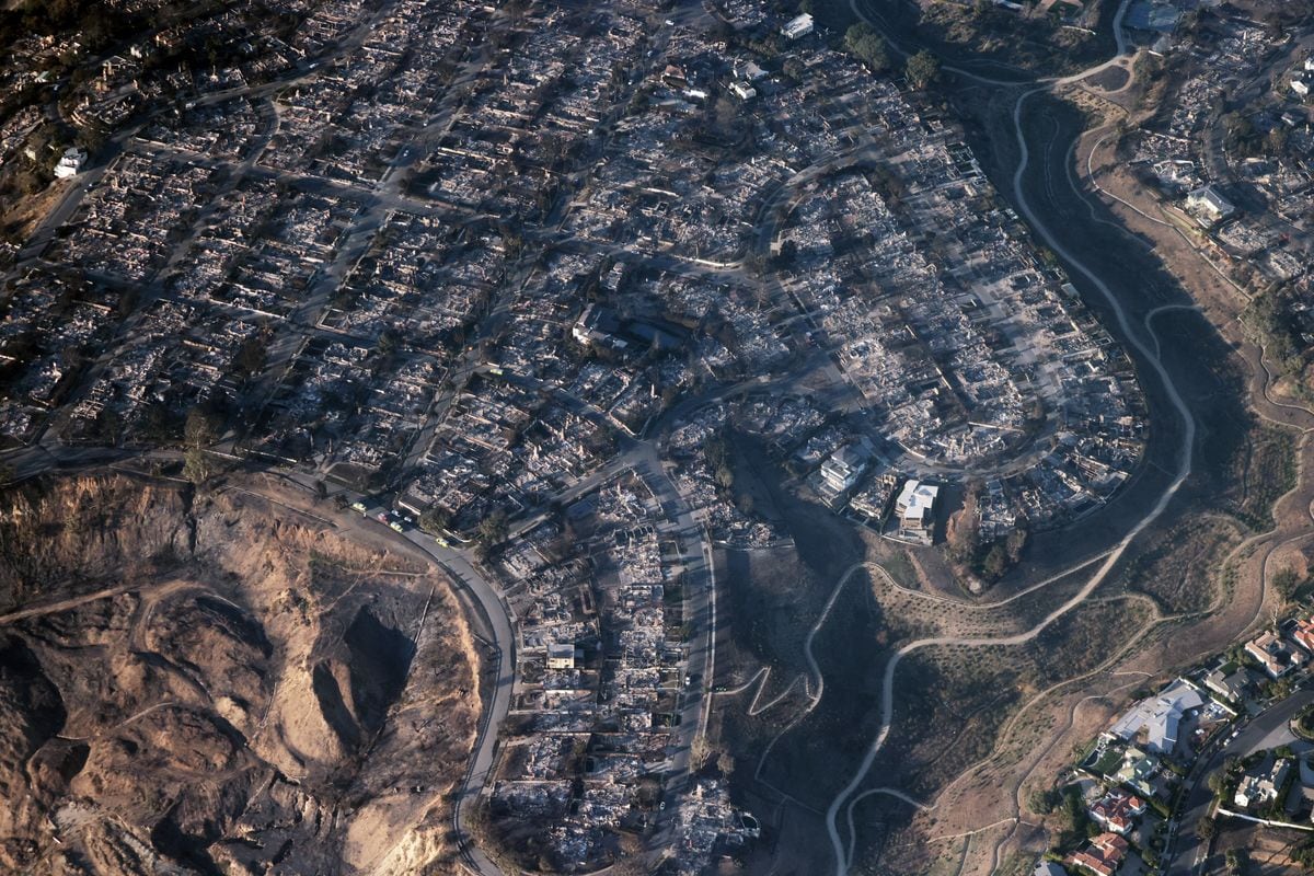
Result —
[{"label": "bare brown eroded hillside with steep gullies inside the curving road", "polygon": [[41,481],[0,495],[0,871],[453,868],[478,658],[418,559],[238,490]]}]

